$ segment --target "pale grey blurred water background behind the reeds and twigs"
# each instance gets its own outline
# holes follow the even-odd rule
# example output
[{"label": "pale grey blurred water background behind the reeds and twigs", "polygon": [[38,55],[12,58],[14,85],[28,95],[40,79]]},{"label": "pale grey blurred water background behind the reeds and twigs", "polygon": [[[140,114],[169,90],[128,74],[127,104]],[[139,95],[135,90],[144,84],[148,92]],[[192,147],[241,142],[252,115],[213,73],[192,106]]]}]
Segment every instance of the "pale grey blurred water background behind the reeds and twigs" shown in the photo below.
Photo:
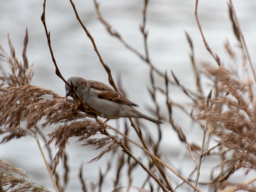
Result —
[{"label": "pale grey blurred water background behind the reeds and twigs", "polygon": [[[149,67],[132,52],[128,51],[116,38],[107,33],[100,21],[97,20],[92,0],[76,0],[74,3],[81,19],[94,37],[103,60],[110,67],[114,79],[116,80],[118,75],[121,74],[123,88],[128,93],[128,98],[140,105],[140,111],[147,113],[146,106],[152,105],[147,91],[150,85]],[[255,63],[256,1],[235,0],[234,5],[248,49],[251,52],[252,61]],[[103,17],[122,34],[127,42],[139,52],[144,53],[143,39],[139,30],[139,25],[142,24],[142,7],[143,1],[137,0],[100,2]],[[42,11],[43,1],[0,1],[0,44],[9,52],[7,39],[9,33],[16,49],[16,55],[22,59],[23,39],[25,30],[28,28],[27,56],[29,63],[34,63],[35,70],[32,84],[51,89],[64,96],[64,83],[55,75],[55,68],[40,19]],[[190,34],[193,40],[198,64],[200,61],[214,63],[204,47],[194,12],[195,1],[149,1],[146,26],[149,31],[148,46],[151,61],[162,71],[167,70],[170,73],[172,69],[179,80],[192,90],[195,89],[195,80],[188,57],[190,51],[185,31]],[[225,65],[229,65],[231,60],[225,53],[223,46],[225,39],[228,39],[231,46],[236,50],[239,51],[239,49],[228,16],[228,3],[222,0],[200,0],[198,15],[208,44],[213,52],[219,55],[221,61]],[[46,24],[48,30],[51,31],[51,43],[55,59],[65,78],[82,76],[86,79],[98,80],[108,84],[107,73],[93,50],[91,41],[76,20],[69,1],[47,1]],[[237,66],[240,65],[240,63],[237,63]],[[156,84],[163,85],[162,79],[156,78]],[[175,89],[172,92],[172,98],[178,102],[189,104],[189,100],[176,92]],[[161,114],[167,117],[164,108],[165,98],[159,95],[157,99],[160,106],[162,105]],[[189,141],[197,142],[197,140],[201,140],[201,132],[194,130],[189,133],[190,126],[193,126],[189,119],[184,120],[183,115],[179,113],[173,115],[177,123],[187,131]],[[123,120],[120,120],[119,123],[123,125]],[[112,120],[109,124],[116,125],[116,121]],[[154,125],[148,123],[148,127],[151,126],[152,130],[150,131],[156,131]],[[51,131],[51,129],[52,127],[48,131]],[[186,162],[186,158],[189,158],[189,156],[184,157],[185,146],[180,144],[177,134],[167,122],[162,126],[162,129],[164,135],[161,147],[164,157],[174,168],[187,175],[194,165],[191,160],[189,160],[191,163]],[[96,156],[98,151],[94,151],[90,147],[81,147],[75,140],[70,140],[67,151],[68,162],[72,165],[68,191],[80,191],[81,186],[77,176],[78,167],[82,162],[88,162]],[[98,162],[84,165],[84,175],[87,182],[90,183],[90,181],[98,179],[96,178],[98,166],[100,164],[104,168],[105,159],[108,157],[109,154],[103,156]],[[0,145],[0,158],[24,169],[32,180],[53,190],[43,159],[33,138],[26,137]],[[183,165],[187,167],[183,167]],[[207,166],[207,164],[203,164],[203,168],[207,168]],[[143,172],[143,170],[140,171]],[[138,172],[139,174],[140,172]],[[201,172],[201,175],[200,179],[208,180],[207,177],[204,178],[204,172]],[[242,178],[241,173],[241,178],[235,179],[241,180]],[[134,185],[140,186],[141,182],[137,179],[134,181]],[[104,191],[109,191],[111,187],[110,176],[109,183],[106,184]]]}]

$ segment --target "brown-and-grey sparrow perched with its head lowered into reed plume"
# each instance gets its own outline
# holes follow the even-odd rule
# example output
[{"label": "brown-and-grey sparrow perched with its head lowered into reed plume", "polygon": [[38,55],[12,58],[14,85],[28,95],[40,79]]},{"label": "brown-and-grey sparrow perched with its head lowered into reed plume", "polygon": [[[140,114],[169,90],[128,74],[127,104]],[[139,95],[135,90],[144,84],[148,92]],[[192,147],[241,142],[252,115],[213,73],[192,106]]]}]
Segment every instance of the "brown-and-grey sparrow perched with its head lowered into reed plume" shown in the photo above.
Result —
[{"label": "brown-and-grey sparrow perched with its head lowered into reed plume", "polygon": [[[86,80],[82,77],[69,77],[68,83],[74,85],[77,94],[84,104],[92,108],[100,117],[108,119],[143,118],[155,124],[162,124],[162,121],[147,116],[133,107],[139,105],[127,100],[123,95],[99,81]],[[76,98],[70,87],[65,84],[66,97]]]}]

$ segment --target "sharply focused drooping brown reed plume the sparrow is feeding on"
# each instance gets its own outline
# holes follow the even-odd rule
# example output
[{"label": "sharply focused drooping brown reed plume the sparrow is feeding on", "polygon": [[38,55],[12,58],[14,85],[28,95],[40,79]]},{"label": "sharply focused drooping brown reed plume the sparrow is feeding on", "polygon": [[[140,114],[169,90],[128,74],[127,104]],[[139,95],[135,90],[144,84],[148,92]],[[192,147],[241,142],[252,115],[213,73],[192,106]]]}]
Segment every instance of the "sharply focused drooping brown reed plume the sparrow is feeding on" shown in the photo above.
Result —
[{"label": "sharply focused drooping brown reed plume the sparrow is feeding on", "polygon": [[58,124],[56,129],[49,134],[47,142],[49,145],[54,141],[58,148],[53,160],[53,173],[62,158],[69,137],[78,137],[78,141],[82,145],[107,148],[95,159],[119,146],[117,144],[119,139],[114,136],[90,138],[105,131],[107,126],[86,118],[88,115],[81,111],[79,102],[60,97],[51,90],[41,87],[24,85],[7,88],[7,92],[0,98],[0,113],[0,126],[4,125],[6,132],[19,127],[20,122],[24,120],[26,120],[26,130],[36,127],[43,118],[45,120],[44,123],[41,123],[43,128],[51,124]]}]

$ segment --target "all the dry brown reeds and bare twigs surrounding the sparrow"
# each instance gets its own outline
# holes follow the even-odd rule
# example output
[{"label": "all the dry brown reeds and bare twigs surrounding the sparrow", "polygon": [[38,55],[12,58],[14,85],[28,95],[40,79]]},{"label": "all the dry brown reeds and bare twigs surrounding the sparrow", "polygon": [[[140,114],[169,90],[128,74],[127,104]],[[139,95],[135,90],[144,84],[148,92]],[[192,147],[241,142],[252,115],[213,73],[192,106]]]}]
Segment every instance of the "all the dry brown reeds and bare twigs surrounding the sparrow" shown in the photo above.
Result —
[{"label": "all the dry brown reeds and bare twigs surrounding the sparrow", "polygon": [[[92,35],[87,30],[86,26],[80,20],[76,12],[75,4],[70,0],[72,8],[76,14],[78,21],[91,39],[93,48],[97,52],[102,66],[108,73],[109,83],[116,89],[122,90],[117,86],[111,76],[111,71],[104,63],[98,52],[97,46],[93,41]],[[132,45],[126,42],[122,35],[116,31],[111,24],[101,15],[99,4],[94,0],[95,9],[99,20],[106,27],[109,34],[115,36],[121,43],[123,43],[129,51],[140,57],[145,61],[151,69],[151,89],[149,93],[152,101],[155,104],[155,109],[152,111],[159,119],[167,119],[170,126],[177,132],[179,139],[186,144],[188,153],[191,156],[191,161],[194,161],[195,169],[191,172],[188,178],[180,175],[170,165],[163,161],[163,154],[161,152],[160,142],[162,139],[163,130],[161,126],[157,126],[158,138],[152,139],[153,135],[147,135],[144,132],[144,125],[139,120],[130,123],[125,123],[124,132],[119,131],[100,119],[97,114],[87,108],[82,100],[78,97],[77,100],[70,100],[60,97],[55,92],[31,85],[33,77],[33,69],[29,67],[26,56],[26,48],[28,44],[28,33],[24,39],[23,62],[20,62],[15,55],[14,47],[9,39],[11,54],[8,56],[4,52],[3,47],[0,46],[0,60],[2,63],[9,64],[8,71],[5,72],[1,68],[2,76],[0,77],[0,133],[2,135],[1,144],[11,142],[14,139],[30,135],[35,137],[37,144],[41,148],[38,140],[38,135],[45,140],[46,147],[49,151],[50,162],[45,160],[45,155],[41,148],[42,158],[48,167],[49,176],[52,178],[53,185],[56,191],[65,191],[68,183],[69,168],[67,163],[67,156],[65,148],[70,137],[75,137],[77,141],[86,146],[91,145],[95,149],[102,149],[100,154],[92,159],[92,161],[100,159],[105,153],[112,153],[112,158],[107,161],[107,169],[105,172],[100,171],[99,180],[88,186],[84,179],[83,166],[79,170],[79,179],[81,181],[81,188],[83,191],[104,191],[104,180],[108,176],[111,169],[116,170],[116,178],[113,180],[114,191],[127,191],[130,186],[138,191],[183,191],[190,189],[190,191],[201,191],[200,185],[207,186],[211,191],[236,191],[244,189],[248,191],[256,191],[252,183],[256,178],[251,178],[244,183],[232,182],[231,175],[236,175],[238,170],[245,170],[245,174],[253,172],[256,169],[256,99],[255,99],[255,78],[250,76],[245,79],[239,78],[236,71],[226,68],[222,65],[217,54],[213,53],[210,46],[204,38],[199,19],[197,17],[197,3],[196,1],[196,21],[200,29],[205,48],[212,55],[216,63],[196,63],[194,59],[193,40],[186,33],[188,44],[191,49],[190,59],[196,77],[196,90],[189,90],[183,86],[179,78],[172,72],[172,76],[167,72],[162,72],[150,61],[147,45],[147,6],[148,1],[144,1],[142,10],[142,24],[140,31],[144,39],[145,54],[135,50]],[[233,60],[242,58],[241,65],[247,65],[249,61],[252,67],[249,52],[244,42],[244,37],[241,35],[242,31],[239,27],[232,1],[230,0],[229,7],[230,20],[233,25],[234,34],[241,47],[240,53],[235,53],[228,41],[225,43],[227,54]],[[54,54],[51,48],[50,32],[47,30],[45,21],[45,1],[42,14],[42,22],[46,32],[46,40],[51,51],[52,60],[56,67],[56,74],[63,79],[58,65],[54,59]],[[245,50],[245,51],[244,51]],[[2,65],[6,66],[6,65]],[[200,68],[200,70],[199,70]],[[253,76],[254,69],[252,68]],[[161,87],[155,86],[155,76],[160,76],[164,79],[165,84]],[[204,82],[202,76],[208,77],[212,84],[210,93],[204,90]],[[69,85],[71,88],[73,85]],[[183,93],[192,100],[193,108],[188,111],[188,108],[179,104],[179,101],[173,101],[170,97],[170,90],[173,86],[179,87]],[[156,100],[156,93],[159,92],[166,97],[166,108],[168,114],[164,117],[160,116],[159,103]],[[124,92],[122,91],[124,94]],[[182,128],[178,125],[175,119],[172,118],[172,108],[180,108],[184,114],[189,116],[193,122],[198,124],[202,129],[203,138],[201,146],[190,143]],[[44,121],[40,120],[44,119]],[[22,127],[22,122],[26,123],[26,127]],[[165,121],[167,123],[167,121]],[[131,124],[129,126],[128,124]],[[45,136],[41,129],[56,125],[56,128],[47,136]],[[139,137],[139,143],[130,138],[131,132],[134,131]],[[98,137],[94,137],[98,135]],[[96,139],[97,138],[97,139]],[[217,140],[217,141],[216,141]],[[214,141],[214,142],[210,142]],[[214,143],[213,145],[210,143]],[[57,153],[52,158],[51,149],[49,146],[54,145],[57,148]],[[132,153],[132,147],[138,146],[143,151],[143,159],[141,156],[135,156]],[[121,148],[122,150],[116,150]],[[217,166],[212,166],[212,171],[209,175],[209,181],[200,182],[201,165],[204,163],[206,156],[218,156],[220,161]],[[103,157],[104,158],[104,157]],[[113,159],[115,158],[115,163]],[[81,159],[81,162],[83,160]],[[57,166],[62,162],[65,167],[63,174],[64,183],[60,184],[60,176],[56,171]],[[120,181],[122,168],[128,167],[127,177],[128,182],[124,185]],[[133,186],[132,181],[136,179],[133,170],[141,167],[147,174],[145,182],[141,186]],[[186,165],[184,165],[186,166]],[[174,173],[180,179],[178,182],[172,180]],[[241,173],[239,173],[241,174]],[[124,176],[124,175],[123,175]],[[48,191],[42,186],[30,181],[24,171],[14,167],[5,160],[0,161],[0,191]],[[186,185],[186,188],[183,188]],[[204,188],[205,189],[205,188]]]}]

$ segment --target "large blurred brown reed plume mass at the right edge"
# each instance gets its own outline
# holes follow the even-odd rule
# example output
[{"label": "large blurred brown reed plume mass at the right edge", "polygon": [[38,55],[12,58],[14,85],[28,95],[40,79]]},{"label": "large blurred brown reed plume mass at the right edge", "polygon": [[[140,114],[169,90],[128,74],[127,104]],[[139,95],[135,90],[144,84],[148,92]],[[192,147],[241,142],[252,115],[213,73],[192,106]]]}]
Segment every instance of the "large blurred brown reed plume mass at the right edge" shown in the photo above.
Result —
[{"label": "large blurred brown reed plume mass at the right edge", "polygon": [[[229,69],[207,64],[204,71],[216,84],[215,96],[196,104],[195,116],[209,125],[212,136],[220,139],[225,158],[215,167],[222,167],[218,177],[213,178],[218,183],[241,168],[246,174],[256,170],[256,95],[249,77],[239,80]],[[229,152],[232,155],[225,155]]]}]

